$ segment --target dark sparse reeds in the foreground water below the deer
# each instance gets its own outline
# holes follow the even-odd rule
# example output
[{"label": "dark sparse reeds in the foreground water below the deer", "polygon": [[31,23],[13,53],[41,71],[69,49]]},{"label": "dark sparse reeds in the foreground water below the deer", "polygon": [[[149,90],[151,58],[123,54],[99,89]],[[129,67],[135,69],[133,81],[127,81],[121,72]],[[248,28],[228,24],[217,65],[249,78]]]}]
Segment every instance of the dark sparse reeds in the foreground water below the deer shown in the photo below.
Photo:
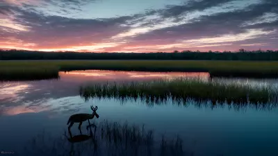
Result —
[{"label": "dark sparse reeds in the foreground water below the deer", "polygon": [[92,128],[88,141],[70,144],[67,132],[60,137],[51,137],[46,132],[35,136],[25,147],[26,155],[187,155],[183,141],[156,135],[153,130],[145,130],[144,125],[101,121]]}]

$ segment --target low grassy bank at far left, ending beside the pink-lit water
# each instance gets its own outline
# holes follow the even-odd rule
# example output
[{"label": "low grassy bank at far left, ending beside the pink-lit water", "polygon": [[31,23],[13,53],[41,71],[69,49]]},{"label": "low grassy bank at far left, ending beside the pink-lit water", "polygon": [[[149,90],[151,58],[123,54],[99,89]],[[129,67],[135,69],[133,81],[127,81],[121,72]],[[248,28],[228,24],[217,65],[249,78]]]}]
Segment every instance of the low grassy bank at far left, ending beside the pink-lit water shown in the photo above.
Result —
[{"label": "low grassy bank at far left, ending beside the pink-lit water", "polygon": [[57,67],[1,67],[0,80],[47,80],[58,79]]}]

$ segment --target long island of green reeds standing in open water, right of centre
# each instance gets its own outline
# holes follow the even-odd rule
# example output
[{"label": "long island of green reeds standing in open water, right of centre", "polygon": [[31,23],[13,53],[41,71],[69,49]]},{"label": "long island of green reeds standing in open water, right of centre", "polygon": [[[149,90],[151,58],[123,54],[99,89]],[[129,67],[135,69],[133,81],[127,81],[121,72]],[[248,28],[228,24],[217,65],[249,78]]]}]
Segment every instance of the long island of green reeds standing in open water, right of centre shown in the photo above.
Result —
[{"label": "long island of green reeds standing in open water, right of centre", "polygon": [[248,85],[204,82],[198,79],[176,78],[173,80],[153,80],[145,83],[106,83],[80,87],[80,95],[88,98],[133,99],[146,103],[164,103],[171,99],[174,103],[188,100],[215,103],[266,104],[274,101],[276,92],[268,87],[254,88]]}]

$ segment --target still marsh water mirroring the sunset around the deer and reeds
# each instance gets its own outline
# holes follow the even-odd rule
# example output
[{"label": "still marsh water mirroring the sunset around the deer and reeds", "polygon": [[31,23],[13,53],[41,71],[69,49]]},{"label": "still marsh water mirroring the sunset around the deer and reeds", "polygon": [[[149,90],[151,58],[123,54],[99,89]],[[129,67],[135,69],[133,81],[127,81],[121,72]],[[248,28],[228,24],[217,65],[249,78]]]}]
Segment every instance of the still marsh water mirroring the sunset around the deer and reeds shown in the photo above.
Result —
[{"label": "still marsh water mirroring the sunset around the deer and reeds", "polygon": [[[0,150],[3,155],[26,154],[24,148],[40,134],[62,136],[72,114],[92,113],[97,105],[99,119],[92,122],[144,125],[154,130],[155,137],[179,137],[188,155],[210,156],[277,156],[277,107],[231,107],[197,104],[194,101],[176,105],[171,101],[147,105],[144,101],[119,101],[113,98],[90,98],[79,95],[81,85],[93,83],[145,81],[156,78],[201,78],[211,80],[208,73],[137,72],[137,71],[70,71],[60,72],[58,80],[38,80],[0,83]],[[275,79],[213,78],[223,83],[242,83],[253,86],[269,85],[278,88]],[[200,90],[199,92],[202,92]],[[85,124],[81,126],[87,132]],[[72,133],[79,134],[78,123]],[[51,141],[41,146],[52,144]],[[80,147],[81,148],[81,147]],[[23,154],[24,153],[24,154]],[[38,153],[43,153],[40,150]]]}]

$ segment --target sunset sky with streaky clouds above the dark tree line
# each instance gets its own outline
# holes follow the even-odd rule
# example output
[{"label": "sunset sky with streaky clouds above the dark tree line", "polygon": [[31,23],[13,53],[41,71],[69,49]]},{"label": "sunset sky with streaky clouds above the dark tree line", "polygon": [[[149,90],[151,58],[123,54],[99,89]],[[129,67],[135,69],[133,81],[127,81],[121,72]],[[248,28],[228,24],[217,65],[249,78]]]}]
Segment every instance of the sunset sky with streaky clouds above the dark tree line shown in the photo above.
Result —
[{"label": "sunset sky with streaky clouds above the dark tree line", "polygon": [[278,50],[277,0],[0,0],[0,49]]}]

